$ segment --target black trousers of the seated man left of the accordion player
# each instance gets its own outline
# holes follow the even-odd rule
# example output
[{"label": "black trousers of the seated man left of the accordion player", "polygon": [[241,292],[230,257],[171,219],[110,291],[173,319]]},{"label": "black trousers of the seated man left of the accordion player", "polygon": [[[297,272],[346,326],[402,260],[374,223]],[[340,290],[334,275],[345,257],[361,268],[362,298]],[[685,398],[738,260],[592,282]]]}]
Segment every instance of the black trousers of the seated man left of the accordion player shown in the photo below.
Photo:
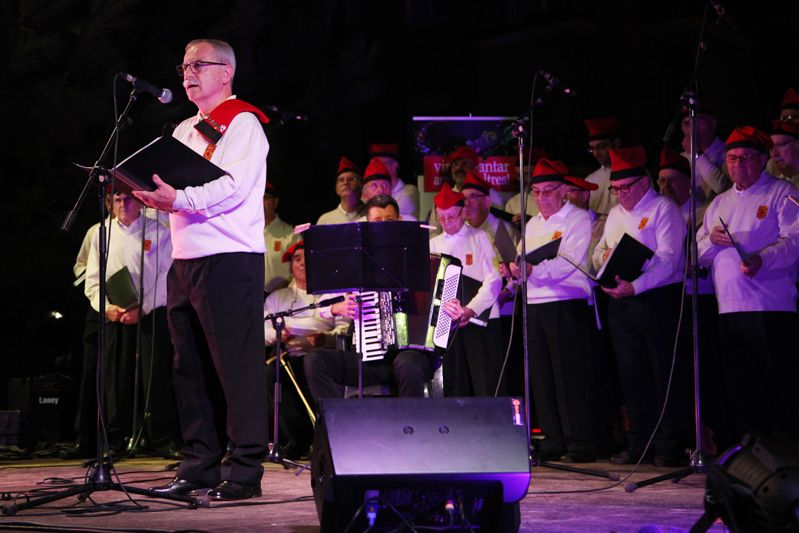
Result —
[{"label": "black trousers of the seated man left of the accordion player", "polygon": [[[305,397],[305,400],[311,407],[311,410],[316,412],[316,402],[311,395],[308,388],[308,381],[305,379],[304,359],[306,356],[283,356],[294,377],[299,385],[300,392]],[[276,372],[277,359],[266,366],[266,393],[269,401],[269,420],[273,420],[274,416],[274,398],[275,398],[275,381],[277,377]],[[281,446],[287,446],[298,451],[306,452],[310,449],[313,443],[313,423],[308,415],[308,410],[305,408],[302,399],[300,398],[297,388],[292,383],[291,378],[286,374],[285,368],[280,369],[280,407],[278,420],[278,428],[280,431],[279,442]],[[270,437],[272,424],[269,425]],[[274,440],[273,440],[274,442]]]}]

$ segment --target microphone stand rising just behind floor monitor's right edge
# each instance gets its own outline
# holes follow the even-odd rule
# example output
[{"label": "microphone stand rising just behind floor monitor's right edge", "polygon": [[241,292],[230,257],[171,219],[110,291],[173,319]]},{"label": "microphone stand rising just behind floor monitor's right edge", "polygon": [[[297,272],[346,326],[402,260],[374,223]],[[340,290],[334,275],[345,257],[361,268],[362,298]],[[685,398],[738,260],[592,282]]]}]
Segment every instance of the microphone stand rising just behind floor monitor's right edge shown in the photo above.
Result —
[{"label": "microphone stand rising just behind floor monitor's right edge", "polygon": [[[530,466],[542,466],[551,468],[553,470],[562,470],[565,472],[573,472],[576,474],[583,474],[588,476],[603,477],[613,481],[618,481],[619,475],[615,472],[603,472],[600,470],[592,470],[588,468],[580,468],[577,466],[570,466],[565,464],[555,464],[548,461],[542,461],[539,457],[540,442],[542,438],[536,438],[535,443],[532,441],[532,426],[530,424],[530,358],[527,348],[527,191],[529,181],[524,176],[524,137],[525,135],[530,138],[530,147],[533,146],[533,111],[535,108],[543,104],[541,98],[535,98],[535,86],[538,80],[539,72],[536,72],[533,77],[533,89],[531,91],[531,103],[527,113],[520,116],[513,123],[512,135],[517,140],[517,150],[519,157],[519,192],[521,199],[521,239],[520,249],[521,257],[519,258],[519,271],[521,272],[522,281],[521,295],[522,295],[522,360],[524,364],[524,409],[525,409],[525,423],[527,425],[527,449],[529,450]],[[532,173],[532,169],[528,165],[528,174]]]}]

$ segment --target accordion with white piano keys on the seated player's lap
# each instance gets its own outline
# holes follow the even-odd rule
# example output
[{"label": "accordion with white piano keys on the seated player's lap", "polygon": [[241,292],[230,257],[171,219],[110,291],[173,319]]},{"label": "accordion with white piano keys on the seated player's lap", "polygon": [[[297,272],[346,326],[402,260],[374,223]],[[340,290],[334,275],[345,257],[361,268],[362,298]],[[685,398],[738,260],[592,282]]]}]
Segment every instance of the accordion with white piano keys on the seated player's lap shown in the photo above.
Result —
[{"label": "accordion with white piano keys on the seated player's lap", "polygon": [[427,291],[362,292],[361,316],[354,322],[353,348],[364,361],[378,361],[393,350],[446,349],[452,319],[441,306],[458,296],[459,259],[430,254]]}]

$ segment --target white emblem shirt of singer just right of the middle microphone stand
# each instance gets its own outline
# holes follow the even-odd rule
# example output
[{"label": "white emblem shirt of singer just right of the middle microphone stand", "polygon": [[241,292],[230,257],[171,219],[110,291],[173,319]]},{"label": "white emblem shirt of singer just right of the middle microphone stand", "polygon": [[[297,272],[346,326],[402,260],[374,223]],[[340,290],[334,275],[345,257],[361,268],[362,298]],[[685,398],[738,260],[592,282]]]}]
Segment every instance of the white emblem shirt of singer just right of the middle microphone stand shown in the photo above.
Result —
[{"label": "white emblem shirt of singer just right of the middle microphone stand", "polygon": [[[591,242],[591,216],[569,202],[548,219],[538,213],[525,228],[527,253],[550,241],[562,239],[558,254],[581,265],[588,265]],[[591,297],[591,282],[585,274],[562,257],[546,259],[533,266],[527,278],[527,303],[541,304]]]}]

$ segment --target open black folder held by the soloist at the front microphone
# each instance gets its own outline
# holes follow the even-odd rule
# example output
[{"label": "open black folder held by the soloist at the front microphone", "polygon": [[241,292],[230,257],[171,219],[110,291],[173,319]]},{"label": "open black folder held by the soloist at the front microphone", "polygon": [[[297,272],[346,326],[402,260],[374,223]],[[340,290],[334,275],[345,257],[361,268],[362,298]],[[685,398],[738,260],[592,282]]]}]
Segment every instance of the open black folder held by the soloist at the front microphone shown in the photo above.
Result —
[{"label": "open black folder held by the soloist at the front microphone", "polygon": [[152,191],[153,174],[175,189],[197,187],[227,174],[171,135],[158,137],[111,170],[116,190]]}]

